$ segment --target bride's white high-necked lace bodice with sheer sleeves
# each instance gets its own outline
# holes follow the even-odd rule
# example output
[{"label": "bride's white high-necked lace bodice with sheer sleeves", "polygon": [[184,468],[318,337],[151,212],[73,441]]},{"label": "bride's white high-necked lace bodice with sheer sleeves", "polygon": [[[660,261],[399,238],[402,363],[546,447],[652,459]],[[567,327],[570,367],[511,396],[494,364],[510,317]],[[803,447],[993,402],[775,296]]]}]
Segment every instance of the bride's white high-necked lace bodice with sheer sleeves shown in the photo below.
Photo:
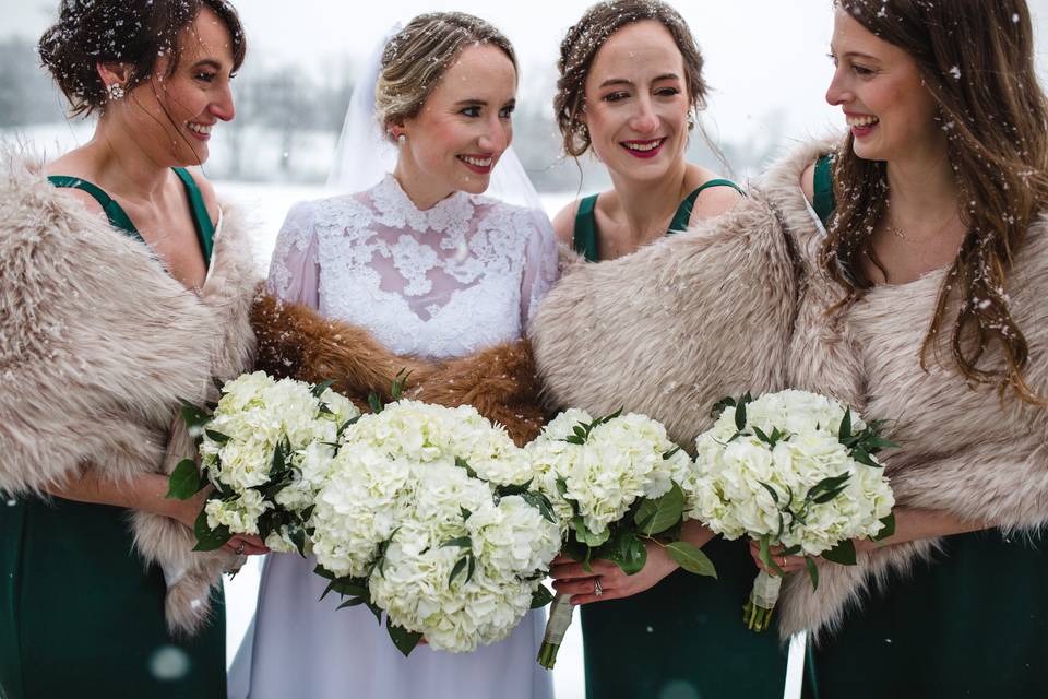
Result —
[{"label": "bride's white high-necked lace bodice with sheer sleeves", "polygon": [[367,328],[397,354],[446,358],[522,336],[556,276],[541,212],[464,192],[419,211],[386,176],[365,192],[295,204],[269,286]]}]

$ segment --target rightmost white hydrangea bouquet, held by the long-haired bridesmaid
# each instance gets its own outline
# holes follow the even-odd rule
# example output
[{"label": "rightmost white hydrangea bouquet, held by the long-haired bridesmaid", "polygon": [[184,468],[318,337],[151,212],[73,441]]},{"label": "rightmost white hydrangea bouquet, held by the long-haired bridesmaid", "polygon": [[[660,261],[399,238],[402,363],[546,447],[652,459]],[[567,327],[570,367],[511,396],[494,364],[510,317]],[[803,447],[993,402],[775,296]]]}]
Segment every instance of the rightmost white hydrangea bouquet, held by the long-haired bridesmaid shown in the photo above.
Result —
[{"label": "rightmost white hydrangea bouquet, held by the long-haired bridesmaid", "polygon": [[813,556],[855,565],[853,540],[880,540],[895,530],[895,499],[873,454],[895,445],[880,420],[861,417],[824,395],[786,390],[757,400],[724,399],[719,417],[695,440],[696,512],[725,538],[760,543],[764,566],[743,607],[748,628],[772,619],[783,569],[770,548],[803,555],[814,588]]}]

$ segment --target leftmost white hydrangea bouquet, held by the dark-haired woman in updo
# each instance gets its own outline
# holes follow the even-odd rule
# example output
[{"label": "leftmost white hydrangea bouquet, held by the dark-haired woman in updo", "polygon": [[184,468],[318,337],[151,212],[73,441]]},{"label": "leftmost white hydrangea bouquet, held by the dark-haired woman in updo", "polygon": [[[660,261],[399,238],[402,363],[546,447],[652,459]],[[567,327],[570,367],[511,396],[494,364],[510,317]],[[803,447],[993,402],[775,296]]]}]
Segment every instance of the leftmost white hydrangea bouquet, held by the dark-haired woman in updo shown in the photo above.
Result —
[{"label": "leftmost white hydrangea bouquet, held by the dark-haired woman in updo", "polygon": [[189,499],[214,487],[196,519],[195,550],[214,550],[234,534],[257,534],[273,550],[308,553],[313,498],[340,436],[360,416],[330,387],[255,371],[226,382],[217,404],[183,403],[200,466],[179,463],[168,497]]}]

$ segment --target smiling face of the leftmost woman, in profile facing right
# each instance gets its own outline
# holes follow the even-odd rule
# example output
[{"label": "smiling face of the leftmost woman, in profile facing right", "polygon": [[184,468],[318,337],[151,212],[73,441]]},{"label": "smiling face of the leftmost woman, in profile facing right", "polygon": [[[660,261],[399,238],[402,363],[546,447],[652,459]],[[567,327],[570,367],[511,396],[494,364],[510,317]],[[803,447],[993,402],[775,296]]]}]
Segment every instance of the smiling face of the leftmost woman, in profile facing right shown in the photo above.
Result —
[{"label": "smiling face of the leftmost woman, in profile facing right", "polygon": [[163,165],[199,165],[207,159],[211,130],[234,117],[229,81],[229,29],[203,8],[179,36],[181,56],[168,75],[170,59],[157,61],[150,80],[108,111],[131,122],[136,141]]}]

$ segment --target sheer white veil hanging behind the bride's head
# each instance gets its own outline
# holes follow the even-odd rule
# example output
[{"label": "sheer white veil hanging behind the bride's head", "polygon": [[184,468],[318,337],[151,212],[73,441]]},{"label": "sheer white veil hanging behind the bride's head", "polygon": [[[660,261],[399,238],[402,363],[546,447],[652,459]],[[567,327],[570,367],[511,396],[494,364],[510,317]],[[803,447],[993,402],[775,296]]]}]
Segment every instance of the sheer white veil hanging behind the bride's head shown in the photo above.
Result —
[{"label": "sheer white veil hanging behind the bride's head", "polygon": [[[360,71],[327,175],[329,190],[349,193],[370,189],[396,166],[396,146],[382,132],[376,118],[374,87],[385,45],[401,28],[396,24],[385,33]],[[538,192],[512,146],[499,158],[484,193],[509,204],[543,211]]]}]

